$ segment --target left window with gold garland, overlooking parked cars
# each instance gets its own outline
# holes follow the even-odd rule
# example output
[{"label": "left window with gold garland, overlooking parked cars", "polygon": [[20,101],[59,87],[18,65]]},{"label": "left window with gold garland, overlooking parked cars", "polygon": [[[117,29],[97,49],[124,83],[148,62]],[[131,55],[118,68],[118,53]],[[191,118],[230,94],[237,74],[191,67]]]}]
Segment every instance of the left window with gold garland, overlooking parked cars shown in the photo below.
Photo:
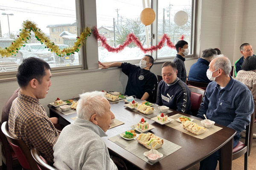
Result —
[{"label": "left window with gold garland, overlooking parked cars", "polygon": [[[9,45],[11,45],[19,34],[19,29],[22,29],[23,21],[26,20],[35,22],[37,27],[40,28],[52,42],[55,42],[56,45],[58,44],[65,48],[73,46],[73,44],[69,43],[70,41],[73,42],[73,38],[69,38],[70,35],[65,35],[67,41],[65,42],[66,44],[64,44],[60,34],[61,29],[64,31],[64,28],[76,24],[76,1],[8,0],[1,3],[0,9],[6,14],[10,14],[9,26],[7,16],[1,15],[0,17],[2,28],[2,35],[0,35],[1,48],[9,47]],[[0,57],[0,67],[6,67],[7,65],[6,72],[17,71],[17,67],[22,62],[22,59],[34,56],[47,61],[52,70],[55,68],[81,68],[81,58],[79,58],[78,53],[75,53],[75,55],[72,54],[70,56],[58,57],[55,53],[51,53],[49,48],[45,48],[45,45],[41,44],[41,42],[35,38],[33,32],[31,32],[31,39],[29,39],[28,43],[25,43],[25,45],[26,48],[20,48],[16,56],[8,58]],[[9,65],[13,66],[9,67]],[[66,65],[70,65],[70,67],[67,67]]]}]

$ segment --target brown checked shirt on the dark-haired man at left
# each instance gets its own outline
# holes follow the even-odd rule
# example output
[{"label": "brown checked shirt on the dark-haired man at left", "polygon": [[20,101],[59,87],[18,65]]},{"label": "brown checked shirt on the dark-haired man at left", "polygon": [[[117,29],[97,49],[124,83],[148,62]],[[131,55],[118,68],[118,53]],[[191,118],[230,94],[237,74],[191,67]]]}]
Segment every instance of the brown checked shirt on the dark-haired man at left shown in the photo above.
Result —
[{"label": "brown checked shirt on the dark-haired man at left", "polygon": [[19,91],[12,102],[8,125],[13,136],[22,139],[29,149],[36,147],[47,162],[53,162],[52,147],[60,131],[55,129],[38,99]]}]

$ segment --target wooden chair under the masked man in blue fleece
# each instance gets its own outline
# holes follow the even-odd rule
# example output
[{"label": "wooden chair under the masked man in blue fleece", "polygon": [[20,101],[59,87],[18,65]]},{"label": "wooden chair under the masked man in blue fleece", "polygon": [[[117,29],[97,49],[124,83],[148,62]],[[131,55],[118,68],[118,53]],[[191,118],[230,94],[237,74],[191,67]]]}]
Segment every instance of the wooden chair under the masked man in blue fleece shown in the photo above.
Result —
[{"label": "wooden chair under the masked man in blue fleece", "polygon": [[254,113],[251,115],[250,124],[246,126],[245,142],[239,141],[236,147],[233,148],[232,160],[238,159],[240,156],[244,155],[244,170],[248,167],[248,156],[249,148],[251,147],[250,139],[253,138],[253,124],[254,124]]}]

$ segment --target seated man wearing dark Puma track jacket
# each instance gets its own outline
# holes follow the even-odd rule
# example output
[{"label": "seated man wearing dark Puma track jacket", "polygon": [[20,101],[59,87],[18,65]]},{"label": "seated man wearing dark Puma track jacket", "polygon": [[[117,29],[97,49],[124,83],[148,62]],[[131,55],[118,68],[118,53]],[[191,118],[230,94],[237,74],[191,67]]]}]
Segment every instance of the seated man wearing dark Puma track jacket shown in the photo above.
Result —
[{"label": "seated man wearing dark Puma track jacket", "polygon": [[156,104],[191,114],[191,91],[183,81],[177,78],[177,68],[174,62],[163,63],[162,77],[163,80],[158,85]]}]

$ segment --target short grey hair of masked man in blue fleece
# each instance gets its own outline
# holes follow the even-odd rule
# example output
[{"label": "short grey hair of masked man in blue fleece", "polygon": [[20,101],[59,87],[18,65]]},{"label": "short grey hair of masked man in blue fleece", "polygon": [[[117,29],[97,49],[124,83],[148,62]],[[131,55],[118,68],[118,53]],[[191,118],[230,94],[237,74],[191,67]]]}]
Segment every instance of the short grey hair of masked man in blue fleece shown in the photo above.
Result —
[{"label": "short grey hair of masked man in blue fleece", "polygon": [[226,75],[230,75],[230,71],[232,69],[231,62],[227,57],[216,57],[216,61],[214,63],[215,70],[221,68]]}]

